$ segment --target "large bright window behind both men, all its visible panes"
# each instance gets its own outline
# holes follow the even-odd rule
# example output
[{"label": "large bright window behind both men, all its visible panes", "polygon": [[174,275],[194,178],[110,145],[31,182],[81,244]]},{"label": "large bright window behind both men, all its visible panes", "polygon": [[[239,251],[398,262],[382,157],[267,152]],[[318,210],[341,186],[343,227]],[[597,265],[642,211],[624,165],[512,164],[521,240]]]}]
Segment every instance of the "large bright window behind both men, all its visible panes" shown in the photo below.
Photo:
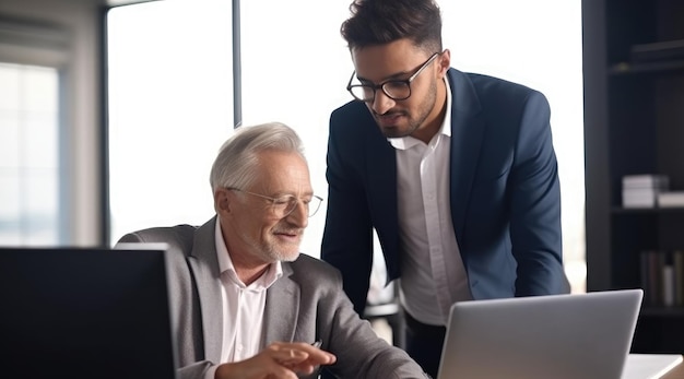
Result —
[{"label": "large bright window behind both men, all its visible panes", "polygon": [[[315,191],[325,198],[328,119],[351,99],[345,84],[353,66],[339,33],[350,0],[239,3],[243,123],[282,121],[295,128],[307,149]],[[453,67],[526,84],[551,103],[566,271],[573,291],[582,292],[581,2],[439,4]],[[213,214],[209,166],[233,127],[229,5],[178,0],[109,12],[115,240],[139,227],[201,223]],[[320,256],[325,210],[323,203],[309,220],[302,245],[314,257]]]}]

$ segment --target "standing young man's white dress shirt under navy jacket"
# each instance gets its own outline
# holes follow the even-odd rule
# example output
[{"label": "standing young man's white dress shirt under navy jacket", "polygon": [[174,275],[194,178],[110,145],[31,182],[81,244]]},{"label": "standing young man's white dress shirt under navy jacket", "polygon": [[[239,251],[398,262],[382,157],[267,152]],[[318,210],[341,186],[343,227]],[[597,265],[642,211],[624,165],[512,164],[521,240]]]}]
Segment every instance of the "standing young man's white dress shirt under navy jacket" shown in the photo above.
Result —
[{"label": "standing young man's white dress shirt under navy jacket", "polygon": [[444,123],[428,144],[413,137],[388,139],[397,154],[400,301],[413,318],[433,325],[446,325],[451,304],[472,299],[451,221],[451,91],[445,84]]}]

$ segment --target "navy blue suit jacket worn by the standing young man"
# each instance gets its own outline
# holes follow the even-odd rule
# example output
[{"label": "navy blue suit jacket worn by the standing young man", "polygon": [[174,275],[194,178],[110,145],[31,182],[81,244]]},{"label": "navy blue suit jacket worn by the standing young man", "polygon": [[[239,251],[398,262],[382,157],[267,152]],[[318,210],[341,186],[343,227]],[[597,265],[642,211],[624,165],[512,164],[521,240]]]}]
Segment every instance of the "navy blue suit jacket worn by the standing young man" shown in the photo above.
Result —
[{"label": "navy blue suit jacket worn by the standing young man", "polygon": [[[448,71],[450,206],[475,299],[567,293],[561,190],[543,94]],[[396,152],[362,102],[330,117],[328,212],[321,258],[363,313],[377,230],[388,282],[400,276]],[[416,200],[417,201],[417,200]]]}]

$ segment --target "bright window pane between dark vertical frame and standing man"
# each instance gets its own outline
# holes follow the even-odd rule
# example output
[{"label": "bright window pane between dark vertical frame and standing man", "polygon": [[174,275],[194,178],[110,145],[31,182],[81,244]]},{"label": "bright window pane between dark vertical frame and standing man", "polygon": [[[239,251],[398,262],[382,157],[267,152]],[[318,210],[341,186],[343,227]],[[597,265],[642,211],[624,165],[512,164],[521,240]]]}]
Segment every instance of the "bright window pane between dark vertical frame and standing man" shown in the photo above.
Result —
[{"label": "bright window pane between dark vertical frame and standing man", "polygon": [[[332,109],[352,99],[345,86],[354,66],[340,36],[349,3],[305,0],[294,8],[274,0],[240,3],[243,123],[282,121],[304,141],[314,191],[323,198],[302,241],[300,250],[314,257],[320,257],[326,222],[328,119]],[[261,33],[264,25],[278,33]]]}]

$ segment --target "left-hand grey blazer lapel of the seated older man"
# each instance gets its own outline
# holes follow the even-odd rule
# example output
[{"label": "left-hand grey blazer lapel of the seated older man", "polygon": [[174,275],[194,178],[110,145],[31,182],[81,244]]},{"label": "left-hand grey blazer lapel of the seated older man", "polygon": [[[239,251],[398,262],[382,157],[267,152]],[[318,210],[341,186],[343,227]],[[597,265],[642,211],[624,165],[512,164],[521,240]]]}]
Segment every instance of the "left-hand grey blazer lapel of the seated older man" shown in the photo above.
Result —
[{"label": "left-hand grey blazer lapel of the seated older man", "polygon": [[223,334],[221,273],[214,244],[215,227],[216,217],[213,217],[197,229],[192,253],[188,257],[188,263],[197,283],[202,312],[204,357],[212,362],[221,359],[221,335]]}]

